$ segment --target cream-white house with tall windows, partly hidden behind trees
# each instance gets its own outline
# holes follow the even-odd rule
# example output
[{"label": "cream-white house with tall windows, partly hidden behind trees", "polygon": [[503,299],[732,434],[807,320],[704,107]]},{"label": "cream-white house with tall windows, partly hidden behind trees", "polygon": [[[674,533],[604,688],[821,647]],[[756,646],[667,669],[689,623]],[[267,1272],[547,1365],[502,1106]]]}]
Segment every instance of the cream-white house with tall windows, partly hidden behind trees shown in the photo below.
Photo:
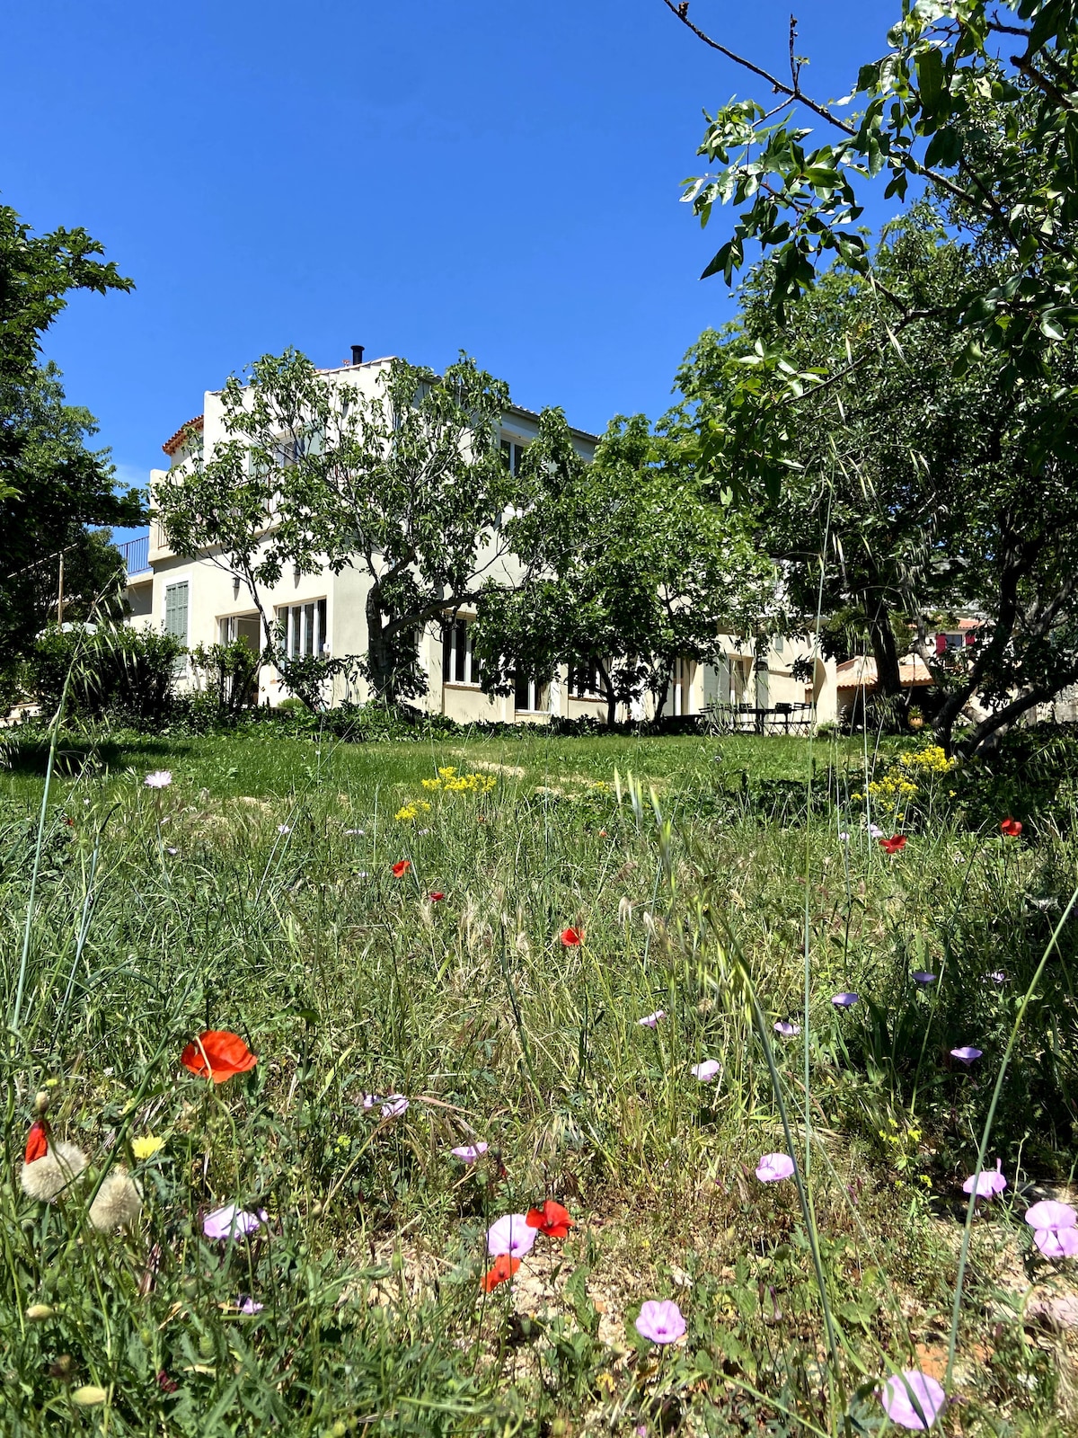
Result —
[{"label": "cream-white house with tall windows, partly hidden behind trees", "polygon": [[[354,362],[321,374],[326,384],[349,384],[371,394],[390,358],[364,361],[362,348],[352,347]],[[502,420],[502,449],[506,462],[516,466],[523,449],[538,434],[539,416],[519,406],[510,406]],[[598,436],[572,430],[578,452],[591,457]],[[183,464],[193,446],[210,453],[223,439],[221,395],[207,391],[200,416],[183,424],[162,449],[170,467]],[[151,503],[154,487],[167,482],[168,470],[149,472]],[[243,584],[230,575],[214,557],[174,554],[164,532],[151,521],[149,533],[121,546],[128,562],[128,597],[131,621],[164,628],[185,646],[213,644],[224,640],[246,640],[252,649],[260,647],[260,626],[254,605]],[[513,582],[512,559],[503,567],[503,578]],[[264,591],[267,605],[276,613],[287,653],[292,656],[362,654],[367,650],[367,621],[364,601],[368,580],[358,569],[333,574],[325,568],[319,574],[282,577],[276,588]],[[515,693],[489,697],[482,692],[479,670],[473,656],[470,626],[474,613],[463,610],[447,615],[443,626],[431,626],[420,643],[420,661],[427,674],[428,692],[420,703],[460,722],[517,720],[545,722],[550,716],[605,718],[605,700],[596,689],[595,674],[586,669],[562,670],[552,683],[536,683],[528,676],[516,682]],[[776,636],[766,657],[756,659],[752,643],[736,636],[724,637],[727,653],[717,664],[697,664],[683,660],[670,684],[664,712],[670,716],[694,715],[706,706],[723,706],[732,712],[755,715],[770,710],[778,725],[789,728],[791,716],[801,722],[815,722],[837,716],[835,666],[812,659],[812,647],[803,640]],[[812,672],[808,683],[791,673],[795,660]],[[197,683],[190,663],[180,676],[181,686]],[[272,666],[263,666],[259,680],[259,702],[276,705],[285,699],[280,677]],[[336,677],[328,703],[361,702],[367,697],[362,680]],[[645,706],[650,709],[650,705]],[[645,710],[632,718],[645,718]],[[627,716],[628,718],[628,716]],[[763,720],[753,720],[763,728]],[[753,726],[746,723],[746,728]]]}]

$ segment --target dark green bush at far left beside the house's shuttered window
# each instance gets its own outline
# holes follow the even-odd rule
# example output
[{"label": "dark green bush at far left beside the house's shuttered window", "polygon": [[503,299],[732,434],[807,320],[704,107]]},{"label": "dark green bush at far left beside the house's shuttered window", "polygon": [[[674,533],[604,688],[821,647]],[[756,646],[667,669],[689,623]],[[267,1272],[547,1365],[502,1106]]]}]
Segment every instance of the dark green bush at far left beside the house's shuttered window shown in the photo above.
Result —
[{"label": "dark green bush at far left beside the house's shuttered window", "polygon": [[23,687],[47,715],[70,672],[68,712],[135,726],[164,722],[174,702],[175,664],[184,646],[171,634],[128,624],[91,630],[50,626],[26,663]]}]

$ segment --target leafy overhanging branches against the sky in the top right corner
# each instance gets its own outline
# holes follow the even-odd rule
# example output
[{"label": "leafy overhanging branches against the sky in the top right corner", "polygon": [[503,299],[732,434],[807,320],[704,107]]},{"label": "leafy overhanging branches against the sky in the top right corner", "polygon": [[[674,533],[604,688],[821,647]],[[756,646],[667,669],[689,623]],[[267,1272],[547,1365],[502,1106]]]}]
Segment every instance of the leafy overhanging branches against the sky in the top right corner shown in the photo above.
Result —
[{"label": "leafy overhanging branches against the sky in the top right corner", "polygon": [[[783,79],[706,33],[688,6],[664,4],[772,88],[766,106],[737,99],[709,118],[699,154],[722,168],[688,181],[686,198],[703,224],[716,204],[746,209],[704,276],[722,273],[729,283],[759,244],[772,259],[769,302],[779,316],[832,257],[868,276],[868,246],[852,226],[860,191],[885,175],[887,198],[927,184],[963,237],[1006,257],[1002,273],[980,273],[962,305],[933,309],[952,315],[970,354],[996,351],[1013,380],[1036,371],[1078,325],[1074,0],[903,3],[883,58],[861,66],[849,95],[828,102],[803,86],[795,20]],[[806,151],[821,122],[834,139]],[[914,296],[878,289],[893,326],[923,318]]]}]

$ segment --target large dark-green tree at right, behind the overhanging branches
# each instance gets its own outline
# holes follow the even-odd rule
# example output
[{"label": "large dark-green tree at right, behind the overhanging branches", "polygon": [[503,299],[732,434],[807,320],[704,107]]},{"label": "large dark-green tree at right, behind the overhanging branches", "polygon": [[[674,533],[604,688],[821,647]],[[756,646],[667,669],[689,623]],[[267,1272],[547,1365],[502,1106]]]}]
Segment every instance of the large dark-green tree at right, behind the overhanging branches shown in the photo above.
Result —
[{"label": "large dark-green tree at right, behind the overhanging branches", "polygon": [[[782,322],[769,265],[746,286],[737,325],[704,335],[680,372],[696,423],[723,426],[739,367],[765,377],[789,467],[750,512],[793,604],[860,620],[885,696],[900,695],[898,657],[913,647],[941,695],[936,729],[949,749],[963,709],[983,706],[960,742],[973,752],[1078,679],[1078,467],[1064,439],[1075,344],[1055,345],[1045,375],[1016,385],[993,355],[966,355],[937,301],[983,289],[986,265],[924,204],[887,230],[870,275],[834,266]],[[881,288],[916,295],[927,312],[901,341]],[[779,352],[788,372],[765,362]],[[791,403],[796,372],[815,383]],[[980,617],[976,643],[937,656],[934,615],[963,610]]]}]

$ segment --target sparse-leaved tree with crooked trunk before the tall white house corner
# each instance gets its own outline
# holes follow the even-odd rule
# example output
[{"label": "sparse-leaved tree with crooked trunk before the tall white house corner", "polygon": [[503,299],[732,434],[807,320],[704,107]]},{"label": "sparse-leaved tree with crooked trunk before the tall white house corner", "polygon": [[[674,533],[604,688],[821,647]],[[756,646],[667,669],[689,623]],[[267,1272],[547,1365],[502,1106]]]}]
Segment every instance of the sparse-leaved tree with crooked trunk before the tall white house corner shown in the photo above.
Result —
[{"label": "sparse-leaved tree with crooked trunk before the tall white house corner", "polygon": [[395,360],[375,395],[328,384],[295,349],[221,395],[226,439],[172,470],[157,509],[170,545],[237,575],[287,677],[262,590],[285,565],[369,581],[365,676],[379,699],[425,690],[424,627],[479,601],[507,552],[519,485],[500,452],[509,390],[464,355],[443,375]]}]

